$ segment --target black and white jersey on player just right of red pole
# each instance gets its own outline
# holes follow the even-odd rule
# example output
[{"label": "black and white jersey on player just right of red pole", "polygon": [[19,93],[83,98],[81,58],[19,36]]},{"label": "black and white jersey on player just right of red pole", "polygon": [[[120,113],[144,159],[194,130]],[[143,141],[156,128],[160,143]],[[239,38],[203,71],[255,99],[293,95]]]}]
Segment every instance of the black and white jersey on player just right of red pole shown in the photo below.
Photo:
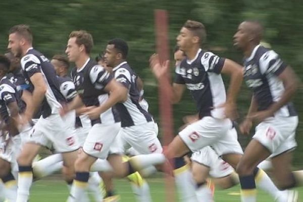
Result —
[{"label": "black and white jersey on player just right of red pole", "polygon": [[201,49],[193,60],[185,58],[176,67],[175,83],[185,84],[195,101],[199,118],[223,117],[223,109],[216,108],[226,102],[225,86],[221,77],[225,59]]}]

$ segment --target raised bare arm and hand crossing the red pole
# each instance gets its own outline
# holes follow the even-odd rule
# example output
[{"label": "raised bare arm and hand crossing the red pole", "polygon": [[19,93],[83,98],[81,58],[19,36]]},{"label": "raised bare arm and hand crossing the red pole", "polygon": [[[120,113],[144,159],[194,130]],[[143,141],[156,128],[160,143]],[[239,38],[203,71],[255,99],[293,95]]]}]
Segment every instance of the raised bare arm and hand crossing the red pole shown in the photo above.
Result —
[{"label": "raised bare arm and hand crossing the red pole", "polygon": [[[176,104],[180,102],[180,99],[183,95],[185,90],[184,84],[177,84],[173,83],[170,84],[168,77],[163,77],[169,73],[169,61],[164,62],[163,64],[160,63],[159,56],[154,54],[149,59],[150,68],[153,71],[154,75],[158,80],[163,82],[161,85],[165,86],[165,90],[167,91],[167,95],[170,96],[170,100],[172,104]],[[165,79],[162,79],[165,78]]]}]

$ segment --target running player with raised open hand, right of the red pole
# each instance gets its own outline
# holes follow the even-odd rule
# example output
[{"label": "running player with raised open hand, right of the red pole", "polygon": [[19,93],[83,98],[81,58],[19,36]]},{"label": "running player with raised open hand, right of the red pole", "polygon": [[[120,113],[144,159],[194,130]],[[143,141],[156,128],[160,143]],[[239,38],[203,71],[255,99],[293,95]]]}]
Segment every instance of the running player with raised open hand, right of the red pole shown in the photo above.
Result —
[{"label": "running player with raised open hand, right of the red pole", "polygon": [[[200,47],[205,42],[206,30],[202,23],[188,20],[180,30],[177,44],[186,59],[176,68],[176,78],[171,85],[163,79],[167,95],[172,103],[177,103],[187,87],[197,105],[199,120],[188,125],[169,144],[164,155],[136,156],[138,167],[162,163],[166,158],[180,157],[188,151],[198,151],[211,145],[218,156],[236,168],[243,152],[237,138],[228,131],[232,127],[229,118],[235,118],[236,97],[242,82],[242,68],[235,62],[205,52]],[[157,55],[150,58],[150,66],[158,80],[162,80],[169,69],[169,61],[161,63]],[[226,95],[221,73],[231,77]],[[261,188],[276,189],[266,173],[258,168],[254,177]],[[240,178],[243,184],[246,178]],[[281,200],[283,201],[283,200]],[[285,201],[285,200],[284,200]]]}]

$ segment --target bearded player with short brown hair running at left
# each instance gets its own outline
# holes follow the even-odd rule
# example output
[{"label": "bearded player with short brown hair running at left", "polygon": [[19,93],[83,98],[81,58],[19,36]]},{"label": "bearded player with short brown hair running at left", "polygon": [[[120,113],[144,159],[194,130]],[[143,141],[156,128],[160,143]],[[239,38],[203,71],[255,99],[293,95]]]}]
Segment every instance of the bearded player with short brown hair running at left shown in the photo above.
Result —
[{"label": "bearded player with short brown hair running at left", "polygon": [[59,111],[66,102],[59,89],[59,82],[52,64],[32,47],[32,32],[27,25],[16,25],[9,31],[9,50],[21,58],[21,66],[26,82],[32,90],[32,106],[27,106],[22,122],[28,122],[41,105],[42,116],[35,124],[28,142],[24,144],[18,157],[19,176],[17,202],[26,202],[32,184],[32,161],[41,145],[52,143],[62,153],[67,167],[65,180],[74,178],[74,162],[79,148],[77,138],[67,126]]}]

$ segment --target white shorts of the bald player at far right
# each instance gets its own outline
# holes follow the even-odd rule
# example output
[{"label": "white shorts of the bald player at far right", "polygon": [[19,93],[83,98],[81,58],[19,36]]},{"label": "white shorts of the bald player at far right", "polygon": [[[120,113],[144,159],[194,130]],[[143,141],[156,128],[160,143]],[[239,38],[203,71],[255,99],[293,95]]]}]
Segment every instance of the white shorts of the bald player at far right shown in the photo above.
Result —
[{"label": "white shorts of the bald player at far right", "polygon": [[271,117],[261,122],[256,127],[252,137],[265,146],[275,157],[297,146],[295,130],[298,117]]}]

